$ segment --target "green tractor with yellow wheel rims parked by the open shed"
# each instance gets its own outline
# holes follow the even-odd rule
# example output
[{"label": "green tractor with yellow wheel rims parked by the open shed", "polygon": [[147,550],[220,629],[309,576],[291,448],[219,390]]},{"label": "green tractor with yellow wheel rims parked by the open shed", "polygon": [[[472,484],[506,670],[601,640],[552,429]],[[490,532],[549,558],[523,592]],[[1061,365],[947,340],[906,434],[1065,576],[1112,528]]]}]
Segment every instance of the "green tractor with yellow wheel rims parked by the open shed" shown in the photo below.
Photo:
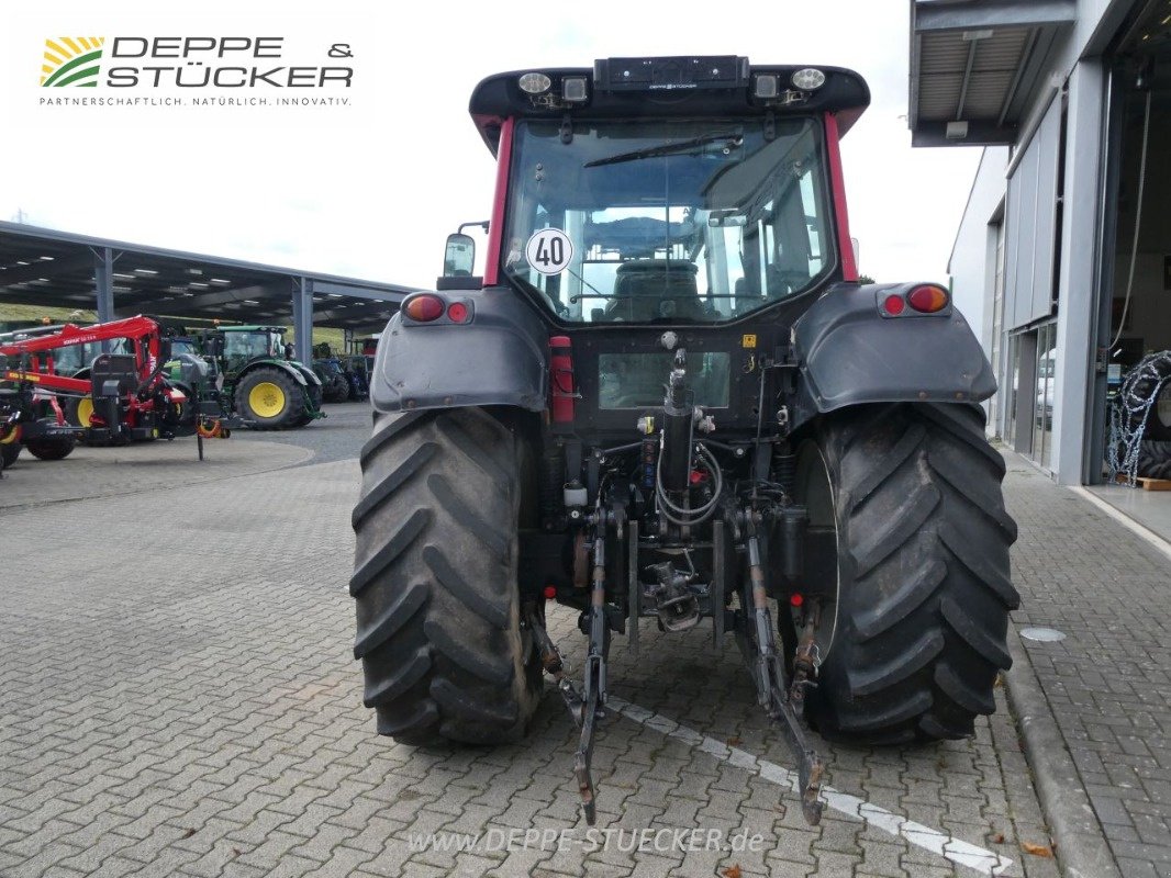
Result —
[{"label": "green tractor with yellow wheel rims parked by the open shed", "polygon": [[303,427],[321,411],[321,379],[309,366],[293,359],[283,327],[218,327],[198,330],[171,342],[172,355],[187,352],[215,361],[222,376],[218,389],[233,411],[254,430]]}]

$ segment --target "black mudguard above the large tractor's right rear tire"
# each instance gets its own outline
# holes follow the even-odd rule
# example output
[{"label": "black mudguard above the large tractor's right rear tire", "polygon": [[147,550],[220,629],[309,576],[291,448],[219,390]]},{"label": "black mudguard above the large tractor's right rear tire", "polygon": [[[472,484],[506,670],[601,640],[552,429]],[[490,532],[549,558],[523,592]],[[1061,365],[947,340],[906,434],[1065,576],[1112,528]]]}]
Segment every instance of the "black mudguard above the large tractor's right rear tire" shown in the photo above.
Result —
[{"label": "black mudguard above the large tractor's right rear tire", "polygon": [[979,403],[997,392],[980,342],[951,304],[884,316],[917,283],[840,283],[793,327],[800,380],[793,426],[861,403]]}]

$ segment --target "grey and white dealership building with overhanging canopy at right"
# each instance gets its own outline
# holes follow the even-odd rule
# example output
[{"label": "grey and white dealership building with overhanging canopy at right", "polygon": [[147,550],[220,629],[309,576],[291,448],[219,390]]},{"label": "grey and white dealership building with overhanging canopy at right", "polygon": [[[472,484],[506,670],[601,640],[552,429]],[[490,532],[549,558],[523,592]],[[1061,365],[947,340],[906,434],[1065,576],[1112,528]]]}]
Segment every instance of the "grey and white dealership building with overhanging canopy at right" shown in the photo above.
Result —
[{"label": "grey and white dealership building with overhanging canopy at right", "polygon": [[949,270],[988,428],[1063,485],[1103,481],[1110,396],[1171,349],[1169,110],[1169,0],[911,2],[915,145],[985,148]]}]

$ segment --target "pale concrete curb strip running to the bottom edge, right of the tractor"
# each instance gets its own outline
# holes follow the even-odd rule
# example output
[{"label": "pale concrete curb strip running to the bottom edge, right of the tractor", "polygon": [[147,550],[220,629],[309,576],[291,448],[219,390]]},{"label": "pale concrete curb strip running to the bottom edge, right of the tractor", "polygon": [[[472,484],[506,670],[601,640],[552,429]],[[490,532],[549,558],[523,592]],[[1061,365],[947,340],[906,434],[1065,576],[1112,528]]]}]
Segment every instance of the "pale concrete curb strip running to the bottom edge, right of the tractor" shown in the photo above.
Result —
[{"label": "pale concrete curb strip running to the bottom edge, right of the tractor", "polygon": [[1008,626],[1013,666],[1005,674],[1008,704],[1025,742],[1025,759],[1066,878],[1122,878],[1090,805],[1069,748],[1015,624]]}]

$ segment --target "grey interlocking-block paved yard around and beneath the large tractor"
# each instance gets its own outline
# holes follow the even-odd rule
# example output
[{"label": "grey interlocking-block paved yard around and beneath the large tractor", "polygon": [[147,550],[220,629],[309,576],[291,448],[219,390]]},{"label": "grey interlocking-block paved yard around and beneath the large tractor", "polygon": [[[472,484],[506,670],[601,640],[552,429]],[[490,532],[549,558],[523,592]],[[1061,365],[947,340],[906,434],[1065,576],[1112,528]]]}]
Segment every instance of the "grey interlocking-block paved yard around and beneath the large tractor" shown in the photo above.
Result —
[{"label": "grey interlocking-block paved yard around and beneath the large tractor", "polygon": [[[998,713],[967,741],[858,749],[815,738],[833,788],[816,829],[801,818],[787,748],[763,722],[734,647],[713,653],[706,631],[644,627],[641,660],[616,639],[615,711],[594,760],[608,836],[590,836],[580,819],[576,734],[552,690],[515,746],[420,750],[378,738],[361,704],[345,591],[354,457],[369,412],[328,410],[329,420],[303,431],[212,445],[214,469],[183,462],[189,450],[177,441],[137,458],[85,450],[68,473],[21,460],[0,481],[0,496],[26,500],[34,479],[73,491],[67,502],[0,506],[5,878],[1059,874],[1002,690]],[[324,425],[328,447],[319,447]],[[148,462],[157,454],[173,460]],[[1117,651],[1109,632],[1122,632],[1103,620],[1114,608],[1098,602],[1089,612],[1082,601],[1102,595],[1118,527],[1091,521],[1102,531],[1096,556],[1070,558],[1053,541],[1080,540],[1062,522],[1081,526],[1091,513],[1076,498],[1035,501],[1062,489],[1029,479],[1014,472],[1007,486],[1023,534],[1020,620]],[[1150,565],[1142,547],[1127,550],[1132,561],[1109,588]],[[1157,590],[1145,588],[1141,609],[1158,618]],[[1060,612],[1062,590],[1075,592],[1076,619]],[[552,633],[580,668],[575,622],[557,610]],[[1160,788],[1151,784],[1162,756],[1122,729],[1123,720],[1167,728],[1150,692],[1157,665],[1167,665],[1153,625],[1097,678],[1074,670],[1082,659],[1067,642],[1060,653],[1027,653],[1061,727],[1063,712],[1086,715],[1081,749],[1101,760],[1095,808],[1125,812],[1137,839],[1129,844],[1158,824]],[[1100,684],[1114,700],[1094,699]],[[1111,750],[1125,757],[1108,759]],[[1155,804],[1144,812],[1142,801]],[[525,835],[534,828],[549,835]],[[1156,862],[1152,851],[1144,856]]]}]

